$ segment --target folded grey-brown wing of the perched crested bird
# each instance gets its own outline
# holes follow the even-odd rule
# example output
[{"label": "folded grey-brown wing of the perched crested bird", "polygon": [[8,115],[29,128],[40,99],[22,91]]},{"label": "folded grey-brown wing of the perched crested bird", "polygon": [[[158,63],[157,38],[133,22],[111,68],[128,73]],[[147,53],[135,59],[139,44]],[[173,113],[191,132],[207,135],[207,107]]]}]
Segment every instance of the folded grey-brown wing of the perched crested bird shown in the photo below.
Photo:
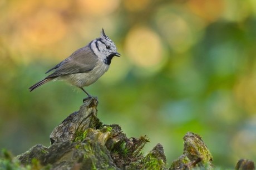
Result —
[{"label": "folded grey-brown wing of the perched crested bird", "polygon": [[[49,71],[56,69],[55,72],[46,78],[52,78],[62,75],[86,73],[95,68],[98,59],[89,47],[83,47],[76,50],[68,58],[57,64]],[[49,72],[47,71],[47,73]]]}]

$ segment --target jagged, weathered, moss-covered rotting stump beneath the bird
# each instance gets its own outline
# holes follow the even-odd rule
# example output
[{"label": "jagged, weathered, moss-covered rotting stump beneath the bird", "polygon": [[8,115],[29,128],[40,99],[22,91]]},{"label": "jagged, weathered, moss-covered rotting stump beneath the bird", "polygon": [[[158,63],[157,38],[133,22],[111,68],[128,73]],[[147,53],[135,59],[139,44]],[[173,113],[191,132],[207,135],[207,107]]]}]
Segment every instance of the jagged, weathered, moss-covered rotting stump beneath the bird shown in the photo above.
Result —
[{"label": "jagged, weathered, moss-covered rotting stump beneath the bird", "polygon": [[[96,98],[88,98],[52,131],[51,146],[40,144],[13,157],[3,152],[0,169],[214,169],[213,157],[201,137],[184,136],[183,154],[166,167],[163,146],[158,143],[145,156],[149,138],[127,138],[119,125],[104,125],[97,118]],[[254,162],[241,159],[235,169],[255,169]]]}]

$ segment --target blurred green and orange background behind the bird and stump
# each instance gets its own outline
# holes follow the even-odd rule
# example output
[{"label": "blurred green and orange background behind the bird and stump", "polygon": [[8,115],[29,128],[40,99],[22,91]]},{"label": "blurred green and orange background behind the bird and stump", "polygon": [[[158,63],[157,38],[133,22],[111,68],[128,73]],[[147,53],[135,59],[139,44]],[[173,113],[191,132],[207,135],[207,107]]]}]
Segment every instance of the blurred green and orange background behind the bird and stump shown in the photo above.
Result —
[{"label": "blurred green and orange background behind the bird and stump", "polygon": [[255,16],[254,0],[0,0],[0,148],[50,146],[86,95],[57,81],[28,87],[104,28],[122,56],[85,88],[102,122],[147,135],[145,153],[161,143],[169,166],[188,131],[215,166],[256,161]]}]

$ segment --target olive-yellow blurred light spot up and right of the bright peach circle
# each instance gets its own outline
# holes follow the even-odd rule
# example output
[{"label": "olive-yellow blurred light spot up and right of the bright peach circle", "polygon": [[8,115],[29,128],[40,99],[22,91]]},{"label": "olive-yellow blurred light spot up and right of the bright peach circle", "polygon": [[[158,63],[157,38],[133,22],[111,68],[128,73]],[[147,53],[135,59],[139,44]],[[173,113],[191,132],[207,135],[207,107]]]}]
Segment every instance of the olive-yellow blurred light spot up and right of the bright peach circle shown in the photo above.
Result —
[{"label": "olive-yellow blurred light spot up and right of the bright peach circle", "polygon": [[157,28],[161,33],[161,38],[169,43],[169,46],[176,53],[184,53],[198,41],[199,32],[203,28],[201,22],[191,27],[195,18],[189,15],[181,15],[184,9],[178,8],[175,11],[171,6],[164,6],[157,11],[155,19]]}]

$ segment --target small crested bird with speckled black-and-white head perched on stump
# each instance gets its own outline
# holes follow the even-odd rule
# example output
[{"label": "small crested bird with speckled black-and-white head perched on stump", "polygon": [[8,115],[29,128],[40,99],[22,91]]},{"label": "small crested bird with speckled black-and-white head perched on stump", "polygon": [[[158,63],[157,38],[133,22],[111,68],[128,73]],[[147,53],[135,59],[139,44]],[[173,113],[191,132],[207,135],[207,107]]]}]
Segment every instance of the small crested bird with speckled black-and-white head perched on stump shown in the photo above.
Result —
[{"label": "small crested bird with speckled black-and-white head perched on stump", "polygon": [[102,28],[101,37],[93,39],[85,47],[77,49],[68,58],[48,70],[46,74],[53,70],[54,72],[29,87],[29,91],[49,81],[66,80],[80,88],[88,97],[92,97],[83,87],[95,83],[109,69],[112,58],[120,55],[115,43],[107,37]]}]

